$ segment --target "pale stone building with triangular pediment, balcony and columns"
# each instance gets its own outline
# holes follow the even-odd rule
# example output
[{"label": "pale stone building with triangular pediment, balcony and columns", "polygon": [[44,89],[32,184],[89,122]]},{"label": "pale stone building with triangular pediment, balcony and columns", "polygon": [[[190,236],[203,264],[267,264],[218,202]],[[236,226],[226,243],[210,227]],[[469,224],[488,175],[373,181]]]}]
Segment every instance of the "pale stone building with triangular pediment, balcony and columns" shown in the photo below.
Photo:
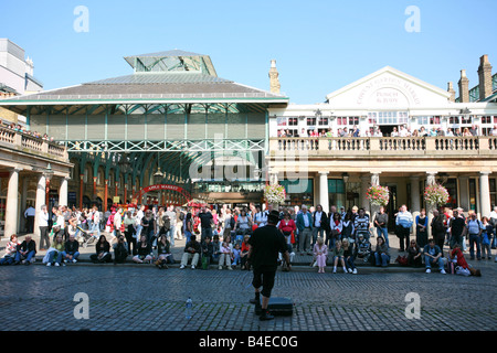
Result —
[{"label": "pale stone building with triangular pediment, balcony and columns", "polygon": [[[322,104],[271,108],[268,165],[287,185],[287,204],[369,211],[366,190],[380,183],[392,214],[401,204],[419,212],[425,185],[442,182],[447,206],[488,215],[497,204],[497,75],[486,55],[480,67],[483,88],[468,89],[462,71],[458,98],[451,83],[444,90],[387,66]],[[475,90],[484,93],[469,98]]]}]

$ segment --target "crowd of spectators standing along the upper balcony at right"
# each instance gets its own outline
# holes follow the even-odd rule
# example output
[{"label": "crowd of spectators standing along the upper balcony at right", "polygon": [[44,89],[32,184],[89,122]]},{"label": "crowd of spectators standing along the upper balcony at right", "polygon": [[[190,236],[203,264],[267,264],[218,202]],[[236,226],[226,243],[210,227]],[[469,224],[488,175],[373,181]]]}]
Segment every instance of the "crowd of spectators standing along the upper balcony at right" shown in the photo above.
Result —
[{"label": "crowd of spectators standing along the upper balcony at right", "polygon": [[[447,136],[447,137],[472,137],[472,136],[482,136],[483,131],[478,128],[478,126],[473,125],[470,128],[451,128],[447,127],[444,129],[443,127],[432,127],[431,129],[426,129],[424,126],[421,126],[419,129],[411,128],[406,125],[400,125],[398,127],[393,127],[390,137],[436,137],[436,136]],[[497,125],[489,131],[490,136],[497,136]],[[338,128],[334,130],[332,128],[326,129],[305,129],[302,128],[300,132],[298,130],[290,129],[279,129],[277,131],[277,137],[279,138],[296,138],[296,137],[383,137],[383,132],[380,127],[374,126],[366,130],[360,130],[358,126],[353,126],[353,128]]]}]

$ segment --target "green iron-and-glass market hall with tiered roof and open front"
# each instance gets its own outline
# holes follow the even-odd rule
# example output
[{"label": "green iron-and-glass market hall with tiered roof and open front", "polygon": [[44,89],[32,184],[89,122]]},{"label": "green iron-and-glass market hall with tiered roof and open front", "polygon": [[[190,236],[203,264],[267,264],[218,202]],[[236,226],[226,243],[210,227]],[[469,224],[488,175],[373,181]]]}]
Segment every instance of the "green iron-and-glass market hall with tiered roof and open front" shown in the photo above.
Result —
[{"label": "green iron-and-glass market hall with tiered roof and open front", "polygon": [[175,50],[125,61],[129,75],[1,103],[66,147],[68,206],[188,201],[171,190],[136,200],[158,183],[212,202],[261,202],[267,108],[288,98],[219,77],[208,55]]}]

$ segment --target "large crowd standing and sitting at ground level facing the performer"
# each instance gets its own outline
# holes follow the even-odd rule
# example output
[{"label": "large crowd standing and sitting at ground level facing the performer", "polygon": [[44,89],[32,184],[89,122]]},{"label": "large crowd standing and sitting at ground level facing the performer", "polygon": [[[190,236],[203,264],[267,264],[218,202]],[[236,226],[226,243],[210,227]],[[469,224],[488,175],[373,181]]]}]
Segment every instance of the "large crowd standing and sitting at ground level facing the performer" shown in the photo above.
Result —
[{"label": "large crowd standing and sitting at ground level facing the performer", "polygon": [[[42,206],[39,249],[46,250],[43,261],[47,266],[76,263],[78,247],[95,244],[95,254],[91,257],[94,263],[117,264],[130,257],[137,264],[155,263],[159,268],[167,268],[175,263],[171,254],[175,240],[184,238],[186,246],[178,259],[180,269],[187,266],[209,268],[214,264],[219,269],[240,267],[246,270],[251,268],[247,259],[251,235],[266,225],[271,211],[271,204],[264,211],[252,204],[233,210],[226,205],[212,208],[141,205],[129,210],[116,206],[106,213],[96,206],[81,211],[59,206],[53,207],[49,216],[46,206]],[[389,266],[392,263],[389,216],[394,217],[399,250],[405,254],[395,261],[414,267],[424,264],[426,272],[435,266],[442,274],[451,270],[480,275],[466,263],[464,253],[468,250],[472,260],[490,259],[497,245],[497,206],[482,220],[477,220],[473,211],[466,217],[462,208],[435,210],[430,224],[425,210],[413,217],[405,205],[394,215],[387,214],[384,207],[370,215],[362,207],[353,206],[346,212],[345,207],[337,210],[335,205],[328,213],[321,205],[281,206],[275,211],[279,214],[276,227],[285,236],[290,263],[295,256],[311,256],[309,265],[317,267],[318,272],[325,272],[329,265],[332,272],[341,267],[343,272],[357,274],[357,261]],[[372,244],[374,237],[376,245]],[[444,253],[444,246],[448,246],[448,252]],[[35,254],[31,236],[22,244],[13,237],[1,264],[29,265]]]}]

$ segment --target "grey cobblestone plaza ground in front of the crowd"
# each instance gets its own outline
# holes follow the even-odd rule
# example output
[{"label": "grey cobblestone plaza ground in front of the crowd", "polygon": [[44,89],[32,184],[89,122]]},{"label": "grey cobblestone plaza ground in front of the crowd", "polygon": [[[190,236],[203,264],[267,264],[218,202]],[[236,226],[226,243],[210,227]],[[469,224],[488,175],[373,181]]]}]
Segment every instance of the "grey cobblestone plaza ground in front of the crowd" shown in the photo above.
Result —
[{"label": "grey cobblestone plaza ground in front of the crowd", "polygon": [[[393,237],[392,237],[393,238]],[[393,239],[392,239],[393,240]],[[394,240],[393,240],[394,242]],[[182,248],[177,242],[176,252]],[[393,243],[394,244],[394,243]],[[89,247],[88,247],[89,250]],[[92,249],[93,250],[93,249]],[[83,255],[82,255],[83,256]],[[175,254],[177,257],[177,255]],[[292,317],[261,322],[248,299],[252,272],[159,270],[152,265],[0,267],[4,331],[495,331],[494,260],[470,261],[482,277],[425,274],[423,269],[361,266],[358,275],[317,274],[307,259],[278,271],[273,296],[295,302]],[[299,261],[299,263],[298,263]],[[88,319],[76,319],[76,293],[88,296]],[[408,319],[410,293],[420,318]],[[193,315],[184,317],[191,296]],[[20,320],[29,310],[29,320]],[[408,313],[409,315],[409,313]],[[25,317],[24,317],[25,318]]]}]

